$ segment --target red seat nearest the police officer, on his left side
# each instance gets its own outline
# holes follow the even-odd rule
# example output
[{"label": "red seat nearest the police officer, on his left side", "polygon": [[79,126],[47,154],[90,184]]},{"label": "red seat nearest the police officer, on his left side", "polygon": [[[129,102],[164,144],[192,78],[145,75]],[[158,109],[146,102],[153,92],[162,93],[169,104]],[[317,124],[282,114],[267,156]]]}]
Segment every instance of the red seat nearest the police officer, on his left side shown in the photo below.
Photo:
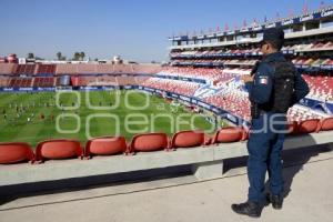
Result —
[{"label": "red seat nearest the police officer, on his left side", "polygon": [[244,140],[244,130],[238,127],[223,128],[216,132],[213,143],[228,143]]}]

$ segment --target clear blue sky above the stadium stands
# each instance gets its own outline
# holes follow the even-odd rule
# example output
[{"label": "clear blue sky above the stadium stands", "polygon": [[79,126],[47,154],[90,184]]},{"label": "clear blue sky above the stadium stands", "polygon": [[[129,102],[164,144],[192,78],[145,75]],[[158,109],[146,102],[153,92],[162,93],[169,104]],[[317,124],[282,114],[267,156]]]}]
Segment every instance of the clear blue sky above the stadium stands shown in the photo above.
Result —
[{"label": "clear blue sky above the stadium stands", "polygon": [[168,37],[299,14],[304,2],[314,10],[321,0],[0,0],[0,57],[168,61]]}]

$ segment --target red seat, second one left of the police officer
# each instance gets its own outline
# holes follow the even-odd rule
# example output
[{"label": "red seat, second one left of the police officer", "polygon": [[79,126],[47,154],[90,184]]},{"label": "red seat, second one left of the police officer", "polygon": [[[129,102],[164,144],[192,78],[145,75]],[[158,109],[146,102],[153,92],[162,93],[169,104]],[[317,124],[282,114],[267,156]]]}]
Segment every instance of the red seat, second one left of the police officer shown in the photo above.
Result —
[{"label": "red seat, second one left of the police officer", "polygon": [[201,131],[182,131],[173,135],[171,148],[193,148],[205,144],[205,134]]}]

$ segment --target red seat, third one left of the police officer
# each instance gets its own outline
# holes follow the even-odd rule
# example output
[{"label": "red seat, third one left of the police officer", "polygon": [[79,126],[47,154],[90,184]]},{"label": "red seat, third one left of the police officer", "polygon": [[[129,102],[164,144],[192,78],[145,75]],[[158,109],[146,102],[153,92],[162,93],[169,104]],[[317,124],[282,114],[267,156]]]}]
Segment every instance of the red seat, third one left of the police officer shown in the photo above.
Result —
[{"label": "red seat, third one left of the police officer", "polygon": [[130,153],[167,150],[169,139],[165,133],[138,134],[132,139]]}]

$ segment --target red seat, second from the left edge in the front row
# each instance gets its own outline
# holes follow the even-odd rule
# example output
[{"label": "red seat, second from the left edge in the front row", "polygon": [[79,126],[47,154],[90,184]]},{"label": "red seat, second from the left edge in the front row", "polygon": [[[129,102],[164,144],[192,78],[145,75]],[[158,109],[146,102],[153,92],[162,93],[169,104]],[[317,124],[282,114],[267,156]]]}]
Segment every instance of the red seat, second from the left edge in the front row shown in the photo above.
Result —
[{"label": "red seat, second from the left edge in the front row", "polygon": [[40,142],[36,149],[37,161],[82,158],[82,154],[80,142],[74,140],[49,140]]}]

